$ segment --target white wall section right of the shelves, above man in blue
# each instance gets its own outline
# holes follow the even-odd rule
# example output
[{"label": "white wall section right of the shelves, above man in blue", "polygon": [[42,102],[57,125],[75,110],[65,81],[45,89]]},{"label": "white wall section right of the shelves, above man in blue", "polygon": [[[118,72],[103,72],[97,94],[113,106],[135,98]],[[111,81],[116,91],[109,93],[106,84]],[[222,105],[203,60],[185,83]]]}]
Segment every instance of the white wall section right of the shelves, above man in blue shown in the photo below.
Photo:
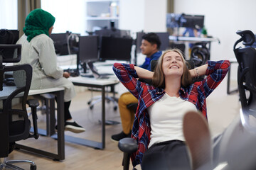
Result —
[{"label": "white wall section right of the shelves, above man in blue", "polygon": [[166,31],[166,0],[121,0],[120,29],[138,32]]}]

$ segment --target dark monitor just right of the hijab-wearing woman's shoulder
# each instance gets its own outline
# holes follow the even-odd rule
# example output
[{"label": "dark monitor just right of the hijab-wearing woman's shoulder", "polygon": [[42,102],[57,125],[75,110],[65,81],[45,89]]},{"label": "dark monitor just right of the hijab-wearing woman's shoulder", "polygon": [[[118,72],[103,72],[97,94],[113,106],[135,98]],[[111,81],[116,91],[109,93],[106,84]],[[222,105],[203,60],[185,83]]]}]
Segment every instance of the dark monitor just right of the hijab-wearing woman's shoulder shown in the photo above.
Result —
[{"label": "dark monitor just right of the hijab-wearing woman's shoulder", "polygon": [[69,33],[52,33],[50,38],[54,42],[57,55],[68,55],[68,35]]}]

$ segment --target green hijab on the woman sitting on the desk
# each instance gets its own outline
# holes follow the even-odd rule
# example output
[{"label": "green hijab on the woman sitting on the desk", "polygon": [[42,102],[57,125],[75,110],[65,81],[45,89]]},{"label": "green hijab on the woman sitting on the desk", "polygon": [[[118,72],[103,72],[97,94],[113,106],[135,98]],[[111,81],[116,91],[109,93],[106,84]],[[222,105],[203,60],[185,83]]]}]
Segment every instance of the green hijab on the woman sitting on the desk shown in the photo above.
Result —
[{"label": "green hijab on the woman sitting on the desk", "polygon": [[36,35],[46,34],[49,36],[49,29],[53,26],[55,17],[50,13],[37,8],[28,14],[23,31],[30,42]]}]

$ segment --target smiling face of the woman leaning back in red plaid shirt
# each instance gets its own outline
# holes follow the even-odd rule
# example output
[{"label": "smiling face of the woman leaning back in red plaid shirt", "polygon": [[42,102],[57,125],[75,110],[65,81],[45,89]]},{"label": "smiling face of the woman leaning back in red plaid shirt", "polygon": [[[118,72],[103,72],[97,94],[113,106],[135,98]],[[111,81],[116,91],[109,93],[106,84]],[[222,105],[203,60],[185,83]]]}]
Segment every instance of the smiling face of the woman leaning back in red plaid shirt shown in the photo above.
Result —
[{"label": "smiling face of the woman leaning back in red plaid shirt", "polygon": [[178,75],[181,77],[184,69],[184,64],[181,55],[173,51],[167,52],[163,56],[162,67],[165,77],[169,75]]}]

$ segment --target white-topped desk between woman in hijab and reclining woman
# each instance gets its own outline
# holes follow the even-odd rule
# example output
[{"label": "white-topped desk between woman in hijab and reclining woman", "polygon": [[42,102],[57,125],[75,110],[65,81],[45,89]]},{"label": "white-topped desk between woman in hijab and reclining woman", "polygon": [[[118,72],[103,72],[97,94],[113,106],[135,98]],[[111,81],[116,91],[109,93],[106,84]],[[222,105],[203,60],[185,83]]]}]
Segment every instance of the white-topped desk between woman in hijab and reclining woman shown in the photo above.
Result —
[{"label": "white-topped desk between woman in hijab and reclining woman", "polygon": [[72,137],[65,135],[65,141],[75,142],[80,145],[85,145],[87,147],[93,147],[97,149],[105,148],[105,87],[114,86],[119,83],[119,80],[115,77],[110,79],[95,79],[87,77],[70,77],[68,78],[73,82],[75,86],[87,86],[96,87],[102,89],[102,142],[96,142],[92,140],[85,140],[78,137]]}]

